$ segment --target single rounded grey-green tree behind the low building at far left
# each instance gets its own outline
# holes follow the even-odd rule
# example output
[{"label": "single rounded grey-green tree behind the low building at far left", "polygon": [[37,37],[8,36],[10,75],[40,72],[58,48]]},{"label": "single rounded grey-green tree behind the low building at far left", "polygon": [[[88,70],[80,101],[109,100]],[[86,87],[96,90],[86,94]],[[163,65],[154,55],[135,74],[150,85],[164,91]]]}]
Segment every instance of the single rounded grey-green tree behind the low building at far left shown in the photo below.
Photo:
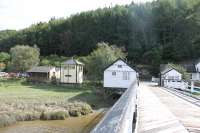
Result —
[{"label": "single rounded grey-green tree behind the low building at far left", "polygon": [[17,45],[10,49],[10,54],[14,71],[25,72],[39,63],[40,50],[36,46]]}]

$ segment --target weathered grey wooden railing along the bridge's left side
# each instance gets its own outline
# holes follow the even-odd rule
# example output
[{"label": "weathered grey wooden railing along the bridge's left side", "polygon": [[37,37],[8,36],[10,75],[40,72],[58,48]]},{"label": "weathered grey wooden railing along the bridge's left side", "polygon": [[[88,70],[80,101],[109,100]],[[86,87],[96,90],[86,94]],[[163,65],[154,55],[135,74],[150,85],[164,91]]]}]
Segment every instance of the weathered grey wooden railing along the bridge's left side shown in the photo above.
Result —
[{"label": "weathered grey wooden railing along the bridge's left side", "polygon": [[133,133],[137,87],[134,81],[91,133]]}]

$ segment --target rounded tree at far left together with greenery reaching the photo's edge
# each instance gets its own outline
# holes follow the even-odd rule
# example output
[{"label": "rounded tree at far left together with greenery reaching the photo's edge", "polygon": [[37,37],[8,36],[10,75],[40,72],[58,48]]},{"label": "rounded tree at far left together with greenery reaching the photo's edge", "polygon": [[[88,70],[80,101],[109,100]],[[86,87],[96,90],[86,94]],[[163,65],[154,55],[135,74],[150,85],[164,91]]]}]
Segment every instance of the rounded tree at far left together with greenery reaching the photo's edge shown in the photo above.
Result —
[{"label": "rounded tree at far left together with greenery reaching the photo's edge", "polygon": [[40,62],[40,50],[36,46],[16,45],[10,53],[0,52],[0,71],[25,72]]}]

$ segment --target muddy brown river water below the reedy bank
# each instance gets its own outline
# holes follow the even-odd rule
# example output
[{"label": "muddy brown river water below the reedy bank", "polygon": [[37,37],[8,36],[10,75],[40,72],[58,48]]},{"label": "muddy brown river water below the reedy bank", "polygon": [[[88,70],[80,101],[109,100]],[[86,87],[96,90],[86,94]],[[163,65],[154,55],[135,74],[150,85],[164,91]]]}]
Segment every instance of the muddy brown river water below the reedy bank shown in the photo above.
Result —
[{"label": "muddy brown river water below the reedy bank", "polygon": [[104,113],[70,117],[66,120],[19,122],[0,128],[0,133],[88,133],[101,120]]}]

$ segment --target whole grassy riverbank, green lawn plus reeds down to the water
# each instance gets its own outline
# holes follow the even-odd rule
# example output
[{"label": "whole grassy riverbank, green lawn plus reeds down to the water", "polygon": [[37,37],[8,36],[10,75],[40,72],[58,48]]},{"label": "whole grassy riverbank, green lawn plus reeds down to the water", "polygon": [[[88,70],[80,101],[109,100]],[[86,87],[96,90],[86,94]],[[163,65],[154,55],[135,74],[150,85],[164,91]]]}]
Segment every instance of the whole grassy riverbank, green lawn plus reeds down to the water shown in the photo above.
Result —
[{"label": "whole grassy riverbank, green lawn plus reeds down to the water", "polygon": [[0,81],[0,127],[18,121],[80,117],[112,104],[94,85],[27,84],[21,79]]}]

